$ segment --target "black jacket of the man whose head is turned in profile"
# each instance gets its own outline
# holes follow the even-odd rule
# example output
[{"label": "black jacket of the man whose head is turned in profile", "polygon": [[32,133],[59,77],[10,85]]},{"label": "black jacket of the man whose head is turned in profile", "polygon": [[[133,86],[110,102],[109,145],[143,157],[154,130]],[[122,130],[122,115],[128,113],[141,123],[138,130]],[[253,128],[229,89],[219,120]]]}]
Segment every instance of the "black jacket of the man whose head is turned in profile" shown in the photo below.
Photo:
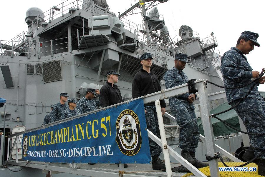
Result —
[{"label": "black jacket of the man whose head is turned in profile", "polygon": [[120,102],[122,102],[120,89],[115,84],[112,87],[112,83],[107,81],[100,89],[100,106],[103,108]]}]

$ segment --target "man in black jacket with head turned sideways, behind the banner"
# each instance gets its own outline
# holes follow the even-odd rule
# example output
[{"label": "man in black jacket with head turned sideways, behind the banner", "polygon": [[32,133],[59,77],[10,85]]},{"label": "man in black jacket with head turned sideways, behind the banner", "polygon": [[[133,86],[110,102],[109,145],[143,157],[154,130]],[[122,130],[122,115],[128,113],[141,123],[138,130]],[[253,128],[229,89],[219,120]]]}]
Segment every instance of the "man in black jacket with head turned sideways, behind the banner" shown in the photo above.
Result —
[{"label": "man in black jacket with head turned sideways, behind the banner", "polygon": [[[118,74],[115,70],[107,72],[108,81],[100,89],[100,105],[102,108],[122,102],[120,89],[118,86],[114,85],[114,83],[118,82],[118,76],[120,76],[120,74]],[[119,166],[119,163],[116,164]],[[124,163],[123,167],[127,168],[127,163]]]}]

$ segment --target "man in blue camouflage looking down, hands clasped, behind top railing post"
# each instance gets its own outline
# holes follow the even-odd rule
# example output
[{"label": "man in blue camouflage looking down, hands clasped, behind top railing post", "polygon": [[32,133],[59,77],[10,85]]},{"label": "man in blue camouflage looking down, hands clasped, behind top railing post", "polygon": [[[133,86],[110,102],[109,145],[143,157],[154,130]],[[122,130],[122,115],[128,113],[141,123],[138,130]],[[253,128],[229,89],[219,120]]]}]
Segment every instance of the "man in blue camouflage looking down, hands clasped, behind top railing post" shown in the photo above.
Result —
[{"label": "man in blue camouflage looking down, hands clasped, behind top railing post", "polygon": [[[175,55],[175,66],[164,75],[166,88],[172,88],[188,83],[188,77],[182,71],[188,62],[186,54]],[[181,156],[197,168],[207,166],[195,158],[200,131],[192,102],[196,99],[196,93],[169,98],[170,110],[180,126],[179,147]]]}]

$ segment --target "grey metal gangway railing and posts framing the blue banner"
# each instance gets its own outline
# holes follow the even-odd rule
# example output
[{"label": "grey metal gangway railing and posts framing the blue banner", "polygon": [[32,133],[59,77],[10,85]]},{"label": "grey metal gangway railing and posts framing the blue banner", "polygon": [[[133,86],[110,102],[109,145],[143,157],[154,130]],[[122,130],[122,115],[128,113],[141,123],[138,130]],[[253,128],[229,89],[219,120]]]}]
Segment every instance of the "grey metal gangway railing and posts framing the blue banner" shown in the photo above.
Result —
[{"label": "grey metal gangway railing and posts framing the blue banner", "polygon": [[[209,118],[210,110],[209,110],[208,101],[215,99],[216,96],[218,95],[218,93],[217,94],[216,93],[210,94],[209,99],[208,99],[208,95],[207,95],[207,91],[206,91],[206,82],[203,79],[195,81],[195,86],[198,89],[198,98],[199,98],[195,102],[196,103],[199,102],[201,105],[201,119],[202,119],[203,129],[207,130],[207,131],[205,131],[205,137],[200,135],[200,139],[206,143],[207,154],[209,156],[215,156],[216,152],[219,151],[223,155],[230,158],[232,161],[242,162],[241,160],[239,160],[238,158],[233,156],[231,153],[229,153],[228,151],[224,150],[223,148],[221,148],[220,146],[218,146],[214,143],[213,127],[212,127],[212,123],[211,123],[211,118]],[[180,154],[178,154],[170,146],[168,146],[167,141],[166,141],[165,129],[164,129],[164,124],[163,124],[163,116],[161,113],[161,107],[160,107],[160,101],[159,100],[164,99],[164,98],[173,97],[173,96],[178,96],[178,95],[181,95],[184,93],[188,93],[187,84],[183,84],[183,85],[176,86],[173,88],[165,89],[165,90],[162,90],[162,91],[159,91],[156,93],[152,93],[152,94],[149,94],[149,95],[142,97],[144,104],[155,101],[156,111],[157,111],[157,115],[158,115],[158,123],[159,123],[159,127],[160,127],[161,139],[159,139],[157,136],[155,136],[149,130],[148,130],[148,137],[150,137],[153,141],[155,141],[159,146],[162,147],[168,177],[172,176],[169,155],[172,156],[173,158],[175,158],[178,162],[180,162],[183,166],[185,166],[194,175],[206,177],[206,175],[204,175],[201,171],[199,171],[197,168],[195,168],[191,163],[186,161]],[[223,91],[220,94],[223,96],[223,94],[224,94]],[[211,97],[213,97],[213,98],[211,98]],[[115,106],[118,106],[121,104],[127,104],[128,102],[134,101],[136,99],[139,99],[139,98],[135,98],[135,99],[132,99],[132,100],[129,100],[126,102],[118,103],[118,104],[108,106],[105,108],[97,109],[97,110],[91,111],[89,113],[80,114],[80,115],[72,117],[72,118],[63,119],[61,121],[53,122],[51,124],[47,124],[44,126],[32,128],[32,129],[29,129],[29,130],[21,132],[21,133],[12,134],[9,136],[9,138],[15,137],[16,140],[14,141],[14,144],[12,146],[11,153],[14,150],[15,145],[16,146],[19,146],[19,145],[22,146],[21,138],[19,135],[21,135],[23,133],[28,133],[31,130],[32,131],[41,130],[41,129],[44,129],[44,128],[47,128],[47,127],[50,127],[53,125],[57,125],[57,124],[60,124],[63,122],[71,121],[73,119],[83,117],[87,114],[97,113],[99,111],[105,110],[106,108],[112,108],[112,107],[115,107]],[[170,114],[165,113],[165,116],[167,116],[171,120],[175,121],[175,118],[173,116],[171,116]],[[17,156],[18,156],[18,154],[16,153],[16,157]],[[50,164],[50,163],[39,164],[39,163],[35,163],[34,161],[21,161],[18,158],[16,158],[16,160],[11,160],[11,155],[9,155],[9,157],[8,157],[7,164],[18,165],[18,166],[26,166],[27,165],[27,167],[31,167],[31,168],[39,168],[39,169],[57,171],[57,172],[63,172],[63,173],[79,174],[79,175],[84,175],[84,176],[103,176],[104,173],[110,174],[110,172],[107,172],[107,171],[104,172],[104,171],[95,171],[92,169],[78,169],[77,168],[78,165],[76,163],[69,163],[70,168],[65,168],[62,166],[55,166],[54,164]],[[218,170],[217,159],[209,161],[209,167],[210,167],[211,176],[217,176],[217,177],[220,176],[219,170]],[[74,170],[72,170],[73,168],[74,168]],[[120,165],[120,169],[121,168],[122,168],[122,170],[124,170],[123,165],[122,165],[122,167]],[[123,175],[126,176],[126,172]],[[141,176],[141,175],[132,174],[132,173],[127,174],[127,175],[128,176]]]}]

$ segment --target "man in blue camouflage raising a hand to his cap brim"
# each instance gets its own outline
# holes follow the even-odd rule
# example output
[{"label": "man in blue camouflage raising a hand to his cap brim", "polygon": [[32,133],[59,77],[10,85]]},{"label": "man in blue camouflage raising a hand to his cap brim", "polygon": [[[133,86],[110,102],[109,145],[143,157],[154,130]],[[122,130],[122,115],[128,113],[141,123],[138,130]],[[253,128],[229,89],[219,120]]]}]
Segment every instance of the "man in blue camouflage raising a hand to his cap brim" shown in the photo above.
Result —
[{"label": "man in blue camouflage raising a hand to his cap brim", "polygon": [[100,106],[100,101],[93,100],[95,95],[98,95],[100,98],[100,92],[97,89],[87,88],[86,96],[81,98],[77,103],[77,112],[78,114],[87,113],[94,111],[97,107]]}]

